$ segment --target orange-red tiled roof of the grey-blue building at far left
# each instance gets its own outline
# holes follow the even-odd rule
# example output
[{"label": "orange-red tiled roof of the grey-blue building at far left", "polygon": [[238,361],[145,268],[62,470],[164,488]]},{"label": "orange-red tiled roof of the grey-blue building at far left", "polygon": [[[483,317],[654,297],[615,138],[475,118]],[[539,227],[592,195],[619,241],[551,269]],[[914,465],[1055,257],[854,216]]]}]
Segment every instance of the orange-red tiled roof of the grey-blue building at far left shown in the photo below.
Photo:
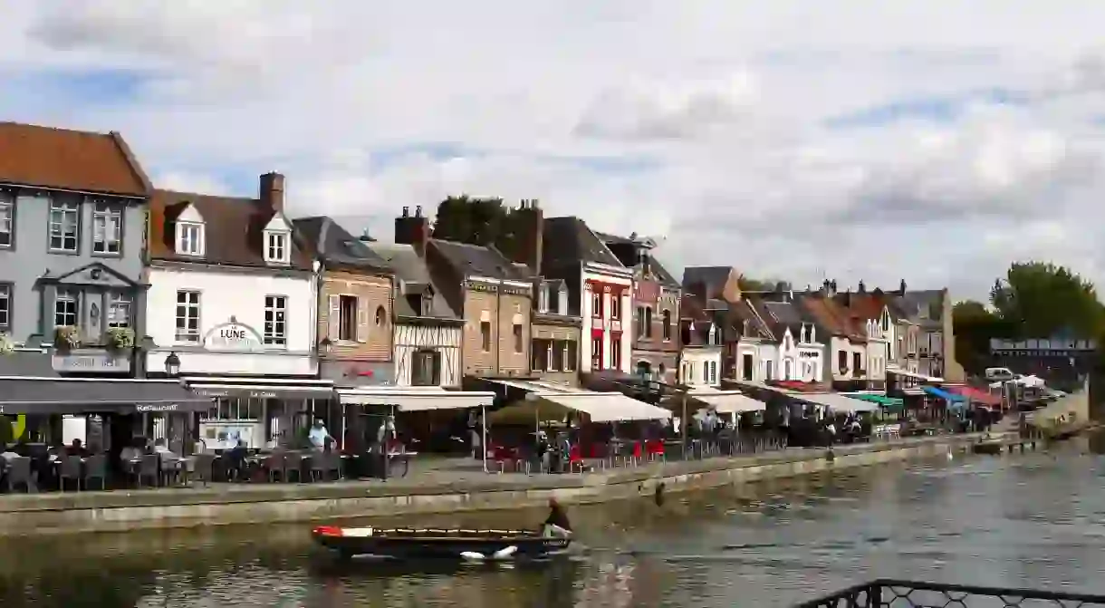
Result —
[{"label": "orange-red tiled roof of the grey-blue building at far left", "polygon": [[0,182],[128,197],[152,187],[123,136],[0,123]]}]

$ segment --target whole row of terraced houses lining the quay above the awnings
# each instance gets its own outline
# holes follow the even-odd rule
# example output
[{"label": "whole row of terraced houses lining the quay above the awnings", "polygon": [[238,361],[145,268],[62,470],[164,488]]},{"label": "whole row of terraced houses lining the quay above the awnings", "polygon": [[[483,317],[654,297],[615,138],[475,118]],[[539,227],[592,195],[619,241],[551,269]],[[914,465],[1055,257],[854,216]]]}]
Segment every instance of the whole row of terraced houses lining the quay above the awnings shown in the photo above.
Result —
[{"label": "whole row of terraced houses lining the quay above the awnings", "polygon": [[312,417],[345,432],[355,405],[961,375],[946,291],[680,281],[655,241],[536,201],[513,258],[434,239],[420,207],[385,243],[287,202],[277,172],[252,198],[162,190],[117,133],[0,124],[0,413],[261,447]]}]

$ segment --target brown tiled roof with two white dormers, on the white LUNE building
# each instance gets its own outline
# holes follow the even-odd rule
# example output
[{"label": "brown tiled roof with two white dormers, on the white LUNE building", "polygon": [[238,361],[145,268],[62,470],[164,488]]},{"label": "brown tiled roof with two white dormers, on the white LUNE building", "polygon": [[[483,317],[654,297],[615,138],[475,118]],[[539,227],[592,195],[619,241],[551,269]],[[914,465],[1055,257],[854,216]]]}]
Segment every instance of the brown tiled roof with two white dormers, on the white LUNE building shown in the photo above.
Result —
[{"label": "brown tiled roof with two white dormers, on the white LUNE building", "polygon": [[[203,218],[203,256],[179,255],[176,251],[176,221],[189,207]],[[149,256],[152,260],[199,262],[228,266],[270,268],[262,240],[272,209],[257,199],[219,197],[155,190],[149,202]],[[291,227],[290,227],[291,228]],[[291,239],[288,268],[311,270],[313,256]]]}]

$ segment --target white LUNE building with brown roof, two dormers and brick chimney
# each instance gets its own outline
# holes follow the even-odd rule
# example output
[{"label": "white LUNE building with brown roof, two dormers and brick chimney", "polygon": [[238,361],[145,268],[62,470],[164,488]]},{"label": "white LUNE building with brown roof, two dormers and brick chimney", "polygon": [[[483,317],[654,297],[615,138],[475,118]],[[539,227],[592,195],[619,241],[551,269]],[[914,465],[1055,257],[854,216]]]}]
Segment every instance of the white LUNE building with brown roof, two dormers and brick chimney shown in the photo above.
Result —
[{"label": "white LUNE building with brown roof, two dormers and brick chimney", "polygon": [[151,202],[146,369],[171,361],[218,398],[198,429],[165,430],[209,449],[272,445],[330,418],[333,381],[316,379],[317,266],[292,239],[283,181],[262,176],[259,199],[157,191]]}]

